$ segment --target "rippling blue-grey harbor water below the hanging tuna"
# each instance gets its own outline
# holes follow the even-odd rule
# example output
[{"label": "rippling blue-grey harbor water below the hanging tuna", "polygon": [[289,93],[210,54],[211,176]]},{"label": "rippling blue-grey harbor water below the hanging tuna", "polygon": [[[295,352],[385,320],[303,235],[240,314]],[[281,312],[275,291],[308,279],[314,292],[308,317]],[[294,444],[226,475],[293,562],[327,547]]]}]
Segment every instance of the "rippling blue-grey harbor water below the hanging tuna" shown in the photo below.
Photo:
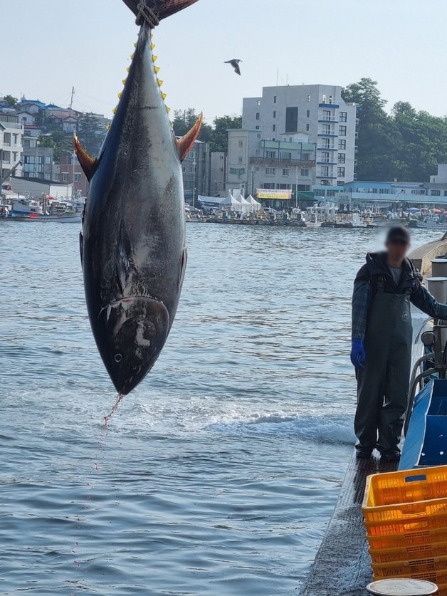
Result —
[{"label": "rippling blue-grey harbor water below the hanging tuna", "polygon": [[172,334],[106,428],[78,226],[1,224],[0,595],[300,594],[354,443],[352,279],[380,235],[187,231]]}]

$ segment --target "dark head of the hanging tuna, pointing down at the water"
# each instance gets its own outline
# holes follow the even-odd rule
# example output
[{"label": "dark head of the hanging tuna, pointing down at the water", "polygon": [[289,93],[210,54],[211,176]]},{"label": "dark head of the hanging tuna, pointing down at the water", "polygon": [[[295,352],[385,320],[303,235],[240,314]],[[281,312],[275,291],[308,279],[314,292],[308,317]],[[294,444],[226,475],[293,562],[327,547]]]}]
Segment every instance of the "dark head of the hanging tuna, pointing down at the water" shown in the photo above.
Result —
[{"label": "dark head of the hanging tuna, pointing down at the water", "polygon": [[161,300],[129,296],[102,308],[95,327],[110,379],[127,395],[157,361],[169,333],[169,312]]}]

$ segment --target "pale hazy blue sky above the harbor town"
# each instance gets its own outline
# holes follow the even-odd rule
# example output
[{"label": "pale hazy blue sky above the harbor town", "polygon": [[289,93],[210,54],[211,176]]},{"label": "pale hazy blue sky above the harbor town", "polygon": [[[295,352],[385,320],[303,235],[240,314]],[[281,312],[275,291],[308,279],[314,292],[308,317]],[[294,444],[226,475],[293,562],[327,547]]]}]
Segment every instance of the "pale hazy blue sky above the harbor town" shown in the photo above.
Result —
[{"label": "pale hazy blue sky above the harbor town", "polygon": [[[121,0],[0,0],[0,96],[24,94],[112,115],[137,39]],[[263,86],[377,80],[399,100],[447,114],[445,0],[199,0],[154,34],[174,109],[240,115]],[[242,77],[223,61],[241,58]]]}]

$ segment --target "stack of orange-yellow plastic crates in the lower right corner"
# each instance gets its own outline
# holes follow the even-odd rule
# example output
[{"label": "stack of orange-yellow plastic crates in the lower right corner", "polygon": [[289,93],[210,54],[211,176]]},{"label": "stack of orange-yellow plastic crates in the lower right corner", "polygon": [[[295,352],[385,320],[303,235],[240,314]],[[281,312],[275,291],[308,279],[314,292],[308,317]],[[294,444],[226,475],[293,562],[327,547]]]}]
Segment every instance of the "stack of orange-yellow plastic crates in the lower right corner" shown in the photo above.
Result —
[{"label": "stack of orange-yellow plastic crates in the lower right corner", "polygon": [[447,466],[369,476],[363,513],[375,580],[428,580],[447,596]]}]

